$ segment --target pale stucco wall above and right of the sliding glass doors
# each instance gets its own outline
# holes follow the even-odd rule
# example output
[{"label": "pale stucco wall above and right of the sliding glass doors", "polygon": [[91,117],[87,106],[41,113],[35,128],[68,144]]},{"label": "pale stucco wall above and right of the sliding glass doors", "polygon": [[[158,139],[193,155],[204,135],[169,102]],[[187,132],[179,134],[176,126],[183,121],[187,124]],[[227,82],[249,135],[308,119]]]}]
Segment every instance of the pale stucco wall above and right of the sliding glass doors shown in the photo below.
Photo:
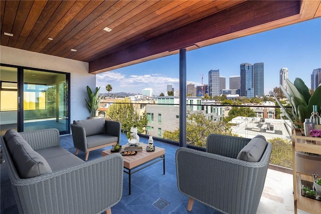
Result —
[{"label": "pale stucco wall above and right of the sliding glass doors", "polygon": [[6,46],[0,46],[0,53],[0,62],[3,64],[70,73],[70,121],[85,120],[90,116],[84,98],[87,97],[87,85],[92,89],[96,87],[96,76],[88,73],[88,62]]}]

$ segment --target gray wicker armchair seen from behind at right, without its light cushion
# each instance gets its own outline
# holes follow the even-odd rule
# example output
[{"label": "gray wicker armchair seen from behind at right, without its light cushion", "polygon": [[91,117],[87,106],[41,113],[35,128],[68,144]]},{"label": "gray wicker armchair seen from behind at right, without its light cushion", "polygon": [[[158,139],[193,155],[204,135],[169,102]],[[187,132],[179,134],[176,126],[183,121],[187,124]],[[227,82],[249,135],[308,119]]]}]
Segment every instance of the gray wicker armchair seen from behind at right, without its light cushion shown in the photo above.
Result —
[{"label": "gray wicker armchair seen from behind at right, without its light cushion", "polygon": [[[223,213],[256,213],[264,187],[272,145],[267,142],[258,162],[237,159],[251,139],[211,134],[206,152],[176,152],[179,191]],[[266,141],[265,141],[266,142]]]}]

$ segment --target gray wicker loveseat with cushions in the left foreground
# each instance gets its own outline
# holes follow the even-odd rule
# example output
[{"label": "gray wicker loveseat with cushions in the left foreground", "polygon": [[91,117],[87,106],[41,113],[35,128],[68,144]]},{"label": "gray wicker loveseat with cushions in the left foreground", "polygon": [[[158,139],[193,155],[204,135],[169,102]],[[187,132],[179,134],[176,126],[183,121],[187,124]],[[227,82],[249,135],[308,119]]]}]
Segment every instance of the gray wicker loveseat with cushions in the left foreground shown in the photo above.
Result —
[{"label": "gray wicker loveseat with cushions in the left foreground", "polygon": [[19,212],[111,213],[122,195],[123,159],[85,162],[59,146],[57,129],[1,136]]}]

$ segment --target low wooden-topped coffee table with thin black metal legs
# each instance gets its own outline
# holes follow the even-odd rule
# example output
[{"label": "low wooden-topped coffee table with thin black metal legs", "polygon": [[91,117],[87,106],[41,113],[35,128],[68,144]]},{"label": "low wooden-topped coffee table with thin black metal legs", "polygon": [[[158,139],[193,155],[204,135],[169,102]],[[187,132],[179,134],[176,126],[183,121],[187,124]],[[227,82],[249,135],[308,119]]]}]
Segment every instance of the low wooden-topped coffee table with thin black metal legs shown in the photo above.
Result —
[{"label": "low wooden-topped coffee table with thin black metal legs", "polygon": [[[137,151],[136,155],[123,155],[124,159],[124,172],[128,174],[128,180],[129,180],[129,194],[130,192],[130,176],[131,174],[146,168],[147,166],[150,166],[154,163],[157,163],[158,161],[163,160],[163,174],[165,174],[165,149],[159,148],[155,146],[155,151],[153,152],[147,152],[146,147],[147,144],[143,144],[143,150]],[[120,152],[123,152],[124,149],[121,148]],[[104,150],[101,152],[102,156],[112,154],[109,150]]]}]

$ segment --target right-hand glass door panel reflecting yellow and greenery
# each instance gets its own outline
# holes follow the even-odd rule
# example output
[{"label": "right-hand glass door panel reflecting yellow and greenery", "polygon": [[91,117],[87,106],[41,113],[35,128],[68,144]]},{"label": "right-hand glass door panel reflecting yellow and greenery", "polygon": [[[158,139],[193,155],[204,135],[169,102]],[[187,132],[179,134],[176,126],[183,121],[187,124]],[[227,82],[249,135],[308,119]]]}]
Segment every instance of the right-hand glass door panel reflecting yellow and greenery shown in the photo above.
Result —
[{"label": "right-hand glass door panel reflecting yellow and greenery", "polygon": [[69,133],[68,74],[24,69],[24,131]]}]

